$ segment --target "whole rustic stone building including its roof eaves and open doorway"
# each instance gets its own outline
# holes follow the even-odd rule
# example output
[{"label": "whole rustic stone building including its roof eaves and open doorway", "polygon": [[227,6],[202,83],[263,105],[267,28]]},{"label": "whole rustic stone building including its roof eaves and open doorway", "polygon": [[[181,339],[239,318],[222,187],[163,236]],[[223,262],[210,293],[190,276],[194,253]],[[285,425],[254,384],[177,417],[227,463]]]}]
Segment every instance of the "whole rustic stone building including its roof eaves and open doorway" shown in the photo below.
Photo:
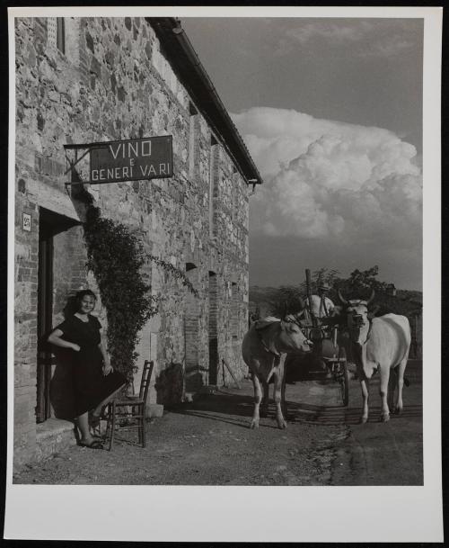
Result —
[{"label": "whole rustic stone building including its roof eaves and open doorway", "polygon": [[[15,20],[14,465],[75,443],[67,373],[41,344],[69,298],[98,285],[86,267],[85,206],[134,229],[145,252],[186,273],[198,297],[151,262],[159,312],[140,333],[154,359],[150,411],[236,377],[248,326],[250,184],[242,138],[174,18]],[[172,136],[172,176],[86,181],[90,143]],[[68,145],[68,148],[67,148]],[[71,148],[72,147],[72,148]],[[81,160],[70,168],[75,158]],[[81,175],[80,175],[81,174]],[[75,180],[74,176],[77,177]],[[101,297],[101,295],[100,295]],[[101,299],[95,313],[107,328]],[[136,373],[136,386],[139,373]]]}]

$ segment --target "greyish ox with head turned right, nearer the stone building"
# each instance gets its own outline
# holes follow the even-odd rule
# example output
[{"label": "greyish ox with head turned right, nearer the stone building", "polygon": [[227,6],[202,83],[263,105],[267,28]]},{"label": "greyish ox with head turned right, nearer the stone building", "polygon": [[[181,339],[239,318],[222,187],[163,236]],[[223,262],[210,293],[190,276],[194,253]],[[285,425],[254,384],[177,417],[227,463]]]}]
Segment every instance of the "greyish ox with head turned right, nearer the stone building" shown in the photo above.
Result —
[{"label": "greyish ox with head turned right, nearer the stone building", "polygon": [[[251,371],[254,386],[254,412],[251,428],[259,427],[259,408],[262,400],[260,383],[264,390],[264,408],[269,403],[269,380],[274,377],[273,397],[279,428],[286,428],[281,401],[285,391],[286,355],[308,352],[312,343],[293,321],[267,318],[252,324],[242,341],[242,357]],[[281,398],[282,392],[282,398]]]}]

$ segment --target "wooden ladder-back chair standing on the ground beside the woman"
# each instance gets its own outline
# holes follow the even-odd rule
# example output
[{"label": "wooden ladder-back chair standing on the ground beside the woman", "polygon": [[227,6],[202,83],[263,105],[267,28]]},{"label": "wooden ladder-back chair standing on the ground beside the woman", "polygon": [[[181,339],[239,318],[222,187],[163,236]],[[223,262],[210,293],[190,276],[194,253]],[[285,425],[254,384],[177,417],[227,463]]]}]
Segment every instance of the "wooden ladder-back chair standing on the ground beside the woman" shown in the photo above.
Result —
[{"label": "wooden ladder-back chair standing on the ground beside the woman", "polygon": [[[126,396],[112,400],[107,408],[107,426],[106,436],[110,436],[109,450],[114,443],[115,431],[117,430],[137,430],[138,443],[142,447],[146,445],[145,439],[145,418],[146,418],[146,399],[148,389],[150,388],[151,375],[153,373],[154,362],[145,360],[142,380],[140,381],[140,390],[138,396]],[[124,419],[125,425],[121,426],[120,419]],[[131,423],[131,424],[129,424]]]}]

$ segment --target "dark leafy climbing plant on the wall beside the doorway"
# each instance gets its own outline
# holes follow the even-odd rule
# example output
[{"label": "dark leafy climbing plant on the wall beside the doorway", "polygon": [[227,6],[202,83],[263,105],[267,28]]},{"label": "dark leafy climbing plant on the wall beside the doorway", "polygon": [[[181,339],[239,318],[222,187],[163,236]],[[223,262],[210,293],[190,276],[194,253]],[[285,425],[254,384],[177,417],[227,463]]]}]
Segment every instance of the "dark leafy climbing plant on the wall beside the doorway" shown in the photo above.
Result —
[{"label": "dark leafy climbing plant on the wall beside the doorway", "polygon": [[198,293],[187,276],[162,258],[145,254],[142,242],[125,225],[101,217],[99,208],[89,205],[84,223],[88,263],[101,293],[108,316],[108,348],[114,367],[132,379],[136,364],[138,333],[158,310],[160,295],[151,294],[148,261]]}]

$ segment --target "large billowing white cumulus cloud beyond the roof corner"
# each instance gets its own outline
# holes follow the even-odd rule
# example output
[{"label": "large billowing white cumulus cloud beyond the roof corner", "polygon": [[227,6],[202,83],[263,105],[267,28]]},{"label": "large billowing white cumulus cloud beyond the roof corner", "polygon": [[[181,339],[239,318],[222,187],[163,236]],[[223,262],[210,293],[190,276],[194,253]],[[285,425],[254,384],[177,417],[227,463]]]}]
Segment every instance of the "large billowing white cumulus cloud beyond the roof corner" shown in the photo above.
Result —
[{"label": "large billowing white cumulus cloud beyond the roof corner", "polygon": [[416,250],[422,182],[412,145],[291,110],[252,108],[233,121],[264,177],[251,197],[253,232]]}]

